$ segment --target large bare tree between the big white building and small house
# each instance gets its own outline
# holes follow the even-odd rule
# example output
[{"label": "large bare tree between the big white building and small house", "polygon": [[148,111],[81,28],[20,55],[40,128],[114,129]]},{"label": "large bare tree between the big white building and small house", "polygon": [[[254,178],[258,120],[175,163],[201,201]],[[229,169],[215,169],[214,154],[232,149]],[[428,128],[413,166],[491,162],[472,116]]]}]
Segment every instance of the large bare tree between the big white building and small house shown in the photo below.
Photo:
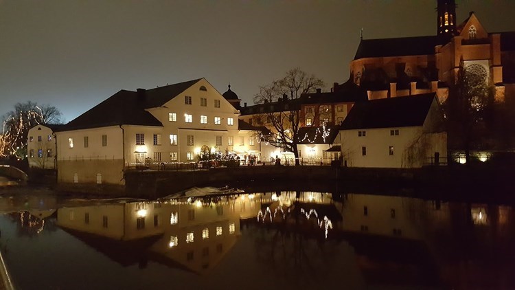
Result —
[{"label": "large bare tree between the big white building and small house", "polygon": [[297,133],[302,124],[300,97],[303,93],[314,93],[317,88],[324,85],[323,80],[297,67],[287,71],[283,78],[261,86],[260,92],[254,96],[255,104],[277,102],[275,109],[268,110],[260,116],[262,123],[271,124],[269,129],[272,131],[271,135],[262,135],[261,139],[292,152],[295,155],[295,165],[299,165]]}]

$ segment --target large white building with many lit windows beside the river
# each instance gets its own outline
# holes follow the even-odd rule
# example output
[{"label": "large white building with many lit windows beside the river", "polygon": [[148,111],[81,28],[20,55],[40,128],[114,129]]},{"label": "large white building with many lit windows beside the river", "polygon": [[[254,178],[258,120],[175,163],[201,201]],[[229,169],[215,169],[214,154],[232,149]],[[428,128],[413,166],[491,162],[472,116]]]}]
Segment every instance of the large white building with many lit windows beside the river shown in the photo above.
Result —
[{"label": "large white building with many lit windows beside the river", "polygon": [[205,78],[121,90],[56,133],[58,181],[124,184],[126,168],[233,151],[238,115]]}]

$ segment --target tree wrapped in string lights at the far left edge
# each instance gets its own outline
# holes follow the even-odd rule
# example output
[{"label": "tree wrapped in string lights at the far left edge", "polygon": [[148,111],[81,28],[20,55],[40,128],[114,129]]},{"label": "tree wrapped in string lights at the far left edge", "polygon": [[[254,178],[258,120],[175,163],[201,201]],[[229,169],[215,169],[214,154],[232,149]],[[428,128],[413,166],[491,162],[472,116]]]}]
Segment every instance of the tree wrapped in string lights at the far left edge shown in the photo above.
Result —
[{"label": "tree wrapped in string lights at the far left edge", "polygon": [[0,156],[18,155],[25,158],[29,129],[37,124],[60,124],[62,113],[48,104],[17,103],[3,116],[0,136]]}]

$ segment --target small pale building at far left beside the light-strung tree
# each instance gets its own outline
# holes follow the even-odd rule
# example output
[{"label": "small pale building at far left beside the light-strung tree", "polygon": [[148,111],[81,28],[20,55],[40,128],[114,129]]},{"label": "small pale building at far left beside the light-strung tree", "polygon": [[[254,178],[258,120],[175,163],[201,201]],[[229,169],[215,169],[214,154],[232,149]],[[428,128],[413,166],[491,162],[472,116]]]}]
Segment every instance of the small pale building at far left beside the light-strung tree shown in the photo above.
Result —
[{"label": "small pale building at far left beside the light-strung tree", "polygon": [[63,125],[38,124],[29,129],[27,159],[30,167],[56,168],[56,139],[54,132]]}]

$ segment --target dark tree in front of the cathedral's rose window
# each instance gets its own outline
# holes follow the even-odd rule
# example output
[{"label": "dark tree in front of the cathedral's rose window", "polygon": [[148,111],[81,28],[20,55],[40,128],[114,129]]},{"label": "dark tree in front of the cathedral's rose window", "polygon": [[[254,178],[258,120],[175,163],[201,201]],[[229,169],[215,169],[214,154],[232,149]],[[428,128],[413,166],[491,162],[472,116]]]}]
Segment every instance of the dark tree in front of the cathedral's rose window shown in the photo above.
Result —
[{"label": "dark tree in front of the cathedral's rose window", "polygon": [[467,164],[470,149],[481,144],[481,137],[492,122],[493,107],[494,89],[488,78],[465,67],[462,59],[445,109],[451,146],[465,151]]}]

